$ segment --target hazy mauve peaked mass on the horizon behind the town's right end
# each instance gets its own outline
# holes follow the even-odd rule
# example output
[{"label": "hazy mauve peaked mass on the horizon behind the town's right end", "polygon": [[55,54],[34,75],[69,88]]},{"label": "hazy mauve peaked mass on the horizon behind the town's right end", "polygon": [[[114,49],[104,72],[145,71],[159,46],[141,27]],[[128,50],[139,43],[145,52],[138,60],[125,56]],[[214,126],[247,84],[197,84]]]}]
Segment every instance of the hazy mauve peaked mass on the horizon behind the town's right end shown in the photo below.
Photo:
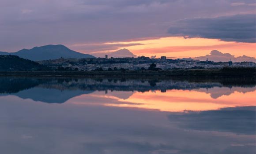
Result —
[{"label": "hazy mauve peaked mass on the horizon behind the town's right end", "polygon": [[195,57],[194,59],[203,60],[203,61],[208,59],[214,62],[228,62],[230,61],[230,59],[233,62],[255,62],[256,61],[254,57],[248,57],[246,55],[235,57],[230,53],[222,53],[218,50],[213,50],[209,55]]}]

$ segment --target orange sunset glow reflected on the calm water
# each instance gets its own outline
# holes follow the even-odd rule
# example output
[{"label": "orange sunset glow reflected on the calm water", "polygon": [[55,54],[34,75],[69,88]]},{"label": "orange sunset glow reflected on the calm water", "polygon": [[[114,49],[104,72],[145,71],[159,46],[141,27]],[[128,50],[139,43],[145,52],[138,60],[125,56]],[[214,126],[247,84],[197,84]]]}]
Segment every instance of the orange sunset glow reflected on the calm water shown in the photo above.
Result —
[{"label": "orange sunset glow reflected on the calm water", "polygon": [[[99,95],[97,92],[90,94],[90,96],[105,99],[105,103],[97,105],[141,108],[168,112],[183,112],[184,110],[218,110],[225,107],[256,106],[255,90],[245,93],[235,91],[232,94],[221,95],[218,98],[212,98],[209,93],[194,90],[134,92],[128,99],[121,99],[111,94]],[[79,97],[83,98],[88,96],[82,95]],[[79,105],[93,105],[93,103],[84,103],[84,99],[82,98],[79,102],[73,101],[73,103]],[[115,100],[115,103],[112,103],[113,100]]]}]

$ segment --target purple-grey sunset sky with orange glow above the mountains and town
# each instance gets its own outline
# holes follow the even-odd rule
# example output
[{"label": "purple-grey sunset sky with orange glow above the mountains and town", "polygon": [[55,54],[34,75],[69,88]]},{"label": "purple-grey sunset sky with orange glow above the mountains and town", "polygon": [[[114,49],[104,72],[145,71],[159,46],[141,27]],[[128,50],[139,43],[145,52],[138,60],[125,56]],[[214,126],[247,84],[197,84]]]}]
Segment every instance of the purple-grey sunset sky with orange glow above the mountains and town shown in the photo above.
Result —
[{"label": "purple-grey sunset sky with orange glow above the mountains and town", "polygon": [[[1,0],[0,51],[63,44],[87,54],[256,57],[255,0]],[[105,53],[103,54],[105,55]]]}]

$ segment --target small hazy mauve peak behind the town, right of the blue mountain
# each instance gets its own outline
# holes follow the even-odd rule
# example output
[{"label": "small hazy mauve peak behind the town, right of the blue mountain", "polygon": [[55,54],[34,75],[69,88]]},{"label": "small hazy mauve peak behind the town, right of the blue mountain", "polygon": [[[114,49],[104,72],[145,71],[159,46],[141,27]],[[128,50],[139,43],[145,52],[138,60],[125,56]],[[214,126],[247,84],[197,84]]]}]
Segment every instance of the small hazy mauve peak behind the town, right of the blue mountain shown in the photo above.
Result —
[{"label": "small hazy mauve peak behind the town, right of the blue mountain", "polygon": [[126,57],[136,57],[136,55],[133,55],[131,51],[128,49],[120,49],[113,52],[101,52],[101,53],[95,53],[96,57],[105,57],[105,55],[108,55],[108,57],[114,57],[114,58],[126,58]]}]

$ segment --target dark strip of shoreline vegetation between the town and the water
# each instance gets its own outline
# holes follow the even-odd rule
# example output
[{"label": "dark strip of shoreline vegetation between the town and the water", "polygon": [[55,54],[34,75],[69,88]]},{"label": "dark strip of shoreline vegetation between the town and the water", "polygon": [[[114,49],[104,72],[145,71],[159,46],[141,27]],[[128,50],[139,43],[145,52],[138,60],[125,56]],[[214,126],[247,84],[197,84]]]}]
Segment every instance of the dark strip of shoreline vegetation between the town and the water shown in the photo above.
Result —
[{"label": "dark strip of shoreline vegetation between the town and the water", "polygon": [[94,70],[94,71],[5,71],[12,77],[127,77],[127,78],[240,78],[256,79],[256,68],[180,69],[180,70]]}]

